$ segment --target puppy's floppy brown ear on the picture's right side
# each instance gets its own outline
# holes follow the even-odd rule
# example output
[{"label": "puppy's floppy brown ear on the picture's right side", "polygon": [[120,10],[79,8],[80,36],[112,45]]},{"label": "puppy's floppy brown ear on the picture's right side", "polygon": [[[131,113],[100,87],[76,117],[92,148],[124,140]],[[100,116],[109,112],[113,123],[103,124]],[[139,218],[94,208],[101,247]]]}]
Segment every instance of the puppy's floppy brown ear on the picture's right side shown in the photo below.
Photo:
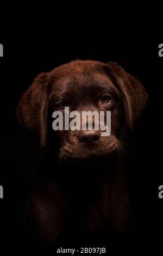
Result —
[{"label": "puppy's floppy brown ear on the picture's right side", "polygon": [[139,80],[128,74],[121,66],[115,62],[107,64],[112,82],[118,87],[124,106],[124,115],[130,130],[139,120],[146,105],[148,95]]}]

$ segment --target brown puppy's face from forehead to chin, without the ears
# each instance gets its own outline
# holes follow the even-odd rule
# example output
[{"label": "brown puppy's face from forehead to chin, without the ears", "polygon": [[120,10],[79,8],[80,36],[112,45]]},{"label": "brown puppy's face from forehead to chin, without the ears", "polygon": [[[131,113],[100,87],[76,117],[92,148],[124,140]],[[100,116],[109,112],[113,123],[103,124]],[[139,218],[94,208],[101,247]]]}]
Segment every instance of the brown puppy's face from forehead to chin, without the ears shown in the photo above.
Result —
[{"label": "brown puppy's face from forehead to chin, without the ears", "polygon": [[109,77],[102,74],[98,67],[85,62],[65,65],[64,72],[59,70],[55,70],[57,77],[53,77],[54,83],[49,95],[51,117],[52,112],[57,110],[64,115],[64,107],[69,107],[70,111],[78,111],[81,115],[82,111],[111,111],[110,136],[102,137],[100,130],[56,131],[61,142],[60,157],[77,160],[103,156],[117,150],[122,97]]}]

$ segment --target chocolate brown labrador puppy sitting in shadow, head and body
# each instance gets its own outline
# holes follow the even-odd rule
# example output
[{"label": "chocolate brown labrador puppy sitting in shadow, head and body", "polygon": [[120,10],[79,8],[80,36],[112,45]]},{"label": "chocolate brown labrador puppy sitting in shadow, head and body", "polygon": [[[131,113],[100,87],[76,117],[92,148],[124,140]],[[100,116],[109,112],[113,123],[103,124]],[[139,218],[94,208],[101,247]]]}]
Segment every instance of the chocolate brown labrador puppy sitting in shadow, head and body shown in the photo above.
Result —
[{"label": "chocolate brown labrador puppy sitting in shadow, head and body", "polygon": [[[133,130],[147,101],[142,84],[114,62],[76,60],[38,75],[18,103],[18,121],[40,137],[27,209],[34,242],[56,244],[128,228],[121,133]],[[52,129],[53,112],[111,111],[111,133]],[[121,160],[120,160],[121,159]],[[106,231],[107,230],[107,231]],[[107,236],[106,235],[106,236]]]}]

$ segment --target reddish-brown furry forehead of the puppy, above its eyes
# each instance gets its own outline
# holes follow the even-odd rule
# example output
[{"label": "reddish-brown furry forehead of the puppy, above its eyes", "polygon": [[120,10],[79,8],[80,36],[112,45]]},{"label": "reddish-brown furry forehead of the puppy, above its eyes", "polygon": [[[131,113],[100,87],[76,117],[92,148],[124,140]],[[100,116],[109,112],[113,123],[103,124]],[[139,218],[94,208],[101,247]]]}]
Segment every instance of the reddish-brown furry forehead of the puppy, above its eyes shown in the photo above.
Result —
[{"label": "reddish-brown furry forehead of the puppy, above its eyes", "polygon": [[[98,93],[102,90],[118,94],[118,90],[106,75],[106,64],[92,61],[76,61],[54,69],[53,91],[62,94]],[[82,95],[80,95],[82,96]]]}]

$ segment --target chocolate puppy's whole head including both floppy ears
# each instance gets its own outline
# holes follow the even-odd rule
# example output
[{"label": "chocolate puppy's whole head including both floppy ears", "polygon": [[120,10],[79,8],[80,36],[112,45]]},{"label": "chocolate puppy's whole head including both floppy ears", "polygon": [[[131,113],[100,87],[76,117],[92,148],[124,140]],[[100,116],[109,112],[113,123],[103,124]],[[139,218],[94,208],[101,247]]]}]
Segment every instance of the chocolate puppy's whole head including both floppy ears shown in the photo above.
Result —
[{"label": "chocolate puppy's whole head including both floppy ears", "polygon": [[[116,63],[73,61],[37,76],[20,100],[16,115],[21,125],[40,135],[41,146],[57,137],[61,159],[105,156],[120,148],[118,135],[126,121],[133,129],[147,101],[142,84]],[[52,130],[52,114],[71,111],[111,111],[111,134],[101,130]],[[94,124],[93,124],[94,125]]]}]

